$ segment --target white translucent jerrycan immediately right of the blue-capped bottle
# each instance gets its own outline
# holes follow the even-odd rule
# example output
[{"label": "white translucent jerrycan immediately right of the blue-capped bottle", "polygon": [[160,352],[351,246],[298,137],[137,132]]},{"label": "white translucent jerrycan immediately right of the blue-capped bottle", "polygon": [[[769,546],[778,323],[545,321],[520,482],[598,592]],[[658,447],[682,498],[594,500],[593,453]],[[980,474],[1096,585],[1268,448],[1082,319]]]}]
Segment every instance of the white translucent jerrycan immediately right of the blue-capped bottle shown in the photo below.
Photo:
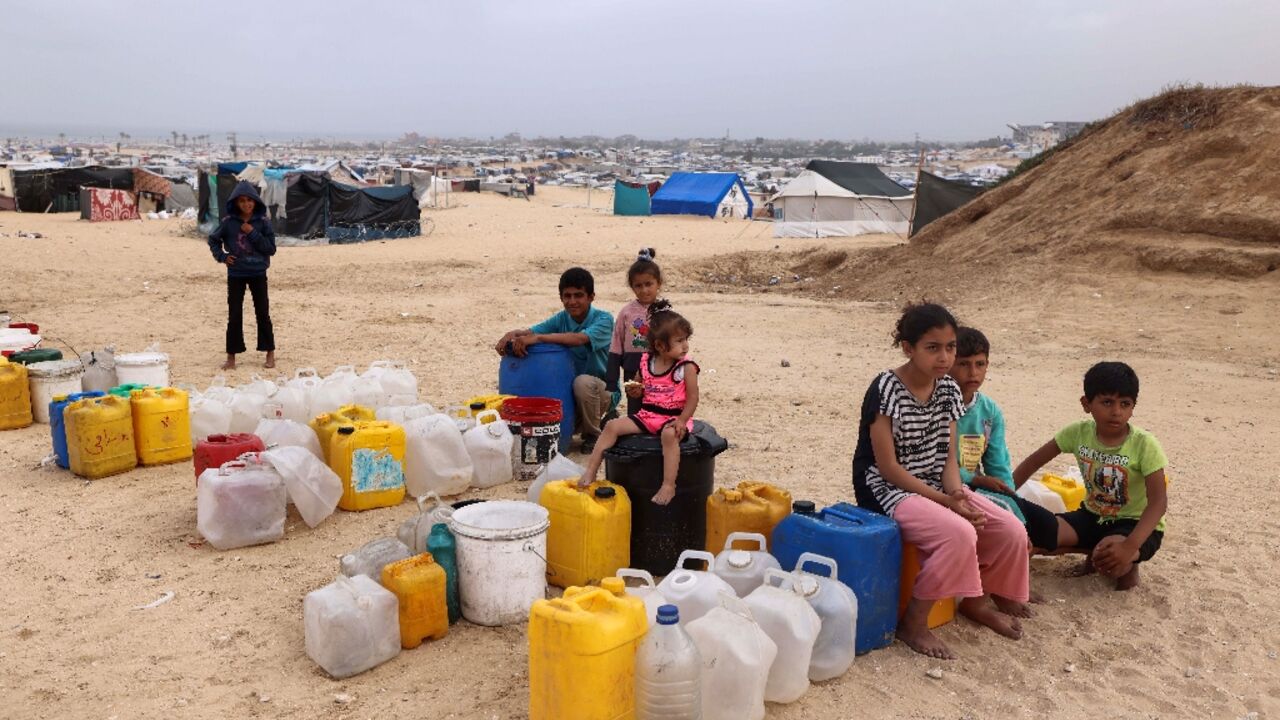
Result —
[{"label": "white translucent jerrycan immediately right of the blue-capped bottle", "polygon": [[703,659],[703,720],[763,720],[778,646],[730,593],[685,629]]}]

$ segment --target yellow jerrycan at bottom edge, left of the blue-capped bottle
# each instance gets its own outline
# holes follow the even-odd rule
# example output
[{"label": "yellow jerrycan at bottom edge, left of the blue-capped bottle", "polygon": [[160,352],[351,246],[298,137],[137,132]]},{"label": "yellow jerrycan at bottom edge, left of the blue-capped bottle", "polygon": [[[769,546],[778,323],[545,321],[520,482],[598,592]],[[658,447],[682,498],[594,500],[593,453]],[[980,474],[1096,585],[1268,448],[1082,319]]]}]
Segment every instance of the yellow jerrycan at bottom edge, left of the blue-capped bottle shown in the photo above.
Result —
[{"label": "yellow jerrycan at bottom edge, left of the blue-capped bottle", "polygon": [[529,611],[529,720],[632,720],[644,601],[622,578],[568,588]]}]

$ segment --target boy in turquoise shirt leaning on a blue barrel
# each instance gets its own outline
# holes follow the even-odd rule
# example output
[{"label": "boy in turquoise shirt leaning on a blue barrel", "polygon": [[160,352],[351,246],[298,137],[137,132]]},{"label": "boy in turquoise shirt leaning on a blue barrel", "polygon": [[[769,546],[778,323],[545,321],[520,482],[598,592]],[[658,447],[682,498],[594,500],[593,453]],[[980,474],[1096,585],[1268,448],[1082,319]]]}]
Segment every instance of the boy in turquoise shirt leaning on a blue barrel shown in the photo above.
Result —
[{"label": "boy in turquoise shirt leaning on a blue barrel", "polygon": [[604,386],[609,342],[613,340],[613,315],[591,305],[595,301],[595,278],[584,268],[570,268],[561,274],[563,310],[530,328],[508,332],[498,341],[498,355],[508,351],[517,357],[529,354],[529,346],[550,342],[568,348],[573,356],[575,425],[582,434],[582,452],[595,447],[600,421],[613,407],[613,393]]}]

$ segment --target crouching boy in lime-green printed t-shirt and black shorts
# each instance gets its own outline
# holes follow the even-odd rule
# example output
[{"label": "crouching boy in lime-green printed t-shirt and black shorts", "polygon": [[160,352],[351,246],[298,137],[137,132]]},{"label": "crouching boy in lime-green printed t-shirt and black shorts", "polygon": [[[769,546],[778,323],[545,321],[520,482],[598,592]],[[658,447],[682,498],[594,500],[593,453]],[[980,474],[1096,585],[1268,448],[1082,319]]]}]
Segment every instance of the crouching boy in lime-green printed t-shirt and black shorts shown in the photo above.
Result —
[{"label": "crouching boy in lime-green printed t-shirt and black shorts", "polygon": [[1080,405],[1088,420],[1059,430],[1014,470],[1021,486],[1061,452],[1075,455],[1084,477],[1079,510],[1057,516],[1061,552],[1088,555],[1085,570],[1116,580],[1116,589],[1138,584],[1138,564],[1151,560],[1165,537],[1164,448],[1155,436],[1132,424],[1138,404],[1138,374],[1124,363],[1098,363],[1084,374]]}]

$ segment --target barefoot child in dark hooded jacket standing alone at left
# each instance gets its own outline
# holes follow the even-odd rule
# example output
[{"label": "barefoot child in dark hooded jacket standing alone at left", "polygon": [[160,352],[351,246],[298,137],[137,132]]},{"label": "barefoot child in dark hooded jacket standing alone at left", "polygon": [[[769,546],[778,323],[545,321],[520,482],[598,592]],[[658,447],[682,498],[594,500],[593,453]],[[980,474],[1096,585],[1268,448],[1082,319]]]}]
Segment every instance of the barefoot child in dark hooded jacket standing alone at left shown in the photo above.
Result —
[{"label": "barefoot child in dark hooded jacket standing alone at left", "polygon": [[236,368],[236,355],[244,352],[244,288],[253,295],[257,318],[257,350],[266,352],[266,368],[275,366],[275,334],[266,299],[266,269],[275,255],[275,231],[266,219],[266,205],[257,191],[241,182],[227,199],[227,218],[209,236],[214,260],[227,265],[227,363]]}]

